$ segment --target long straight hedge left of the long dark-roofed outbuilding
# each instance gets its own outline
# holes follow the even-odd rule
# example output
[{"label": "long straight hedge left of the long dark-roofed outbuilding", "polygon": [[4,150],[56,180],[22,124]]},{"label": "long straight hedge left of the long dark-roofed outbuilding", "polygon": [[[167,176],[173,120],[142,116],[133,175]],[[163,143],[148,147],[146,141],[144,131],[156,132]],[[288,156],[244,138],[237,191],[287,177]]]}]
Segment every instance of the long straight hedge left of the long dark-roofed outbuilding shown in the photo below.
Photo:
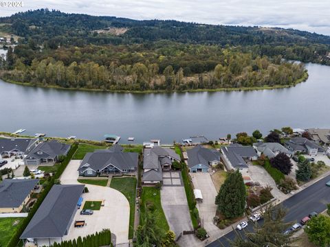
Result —
[{"label": "long straight hedge left of the long dark-roofed outbuilding", "polygon": [[61,176],[61,174],[64,172],[65,167],[67,167],[67,164],[69,164],[69,161],[71,161],[71,158],[74,155],[74,153],[76,152],[77,148],[78,148],[77,143],[74,143],[71,146],[69,152],[67,153],[67,156],[61,162],[61,165],[58,167],[56,174],[54,175],[54,177],[50,177],[49,180],[47,180],[47,183],[46,183],[45,187],[43,188],[43,192],[41,192],[38,200],[36,200],[36,202],[34,203],[32,209],[30,210],[30,212],[28,214],[28,217],[24,218],[21,226],[19,226],[19,228],[17,228],[16,233],[12,236],[12,238],[10,239],[10,242],[8,242],[6,247],[16,247],[19,244],[19,241],[20,241],[19,237],[21,237],[24,229],[26,228],[26,226],[28,226],[30,220],[32,220],[34,213],[36,213],[36,211],[39,209],[41,203],[47,196],[48,192],[50,192],[50,189],[52,189],[52,187],[54,185],[54,180],[58,179]]}]

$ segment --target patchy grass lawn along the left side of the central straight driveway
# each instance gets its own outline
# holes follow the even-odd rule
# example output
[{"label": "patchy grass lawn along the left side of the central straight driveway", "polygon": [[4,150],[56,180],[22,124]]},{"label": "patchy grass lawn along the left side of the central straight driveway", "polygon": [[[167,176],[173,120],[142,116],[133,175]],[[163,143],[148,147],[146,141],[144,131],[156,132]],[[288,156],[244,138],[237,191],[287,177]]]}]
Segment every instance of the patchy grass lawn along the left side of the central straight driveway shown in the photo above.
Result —
[{"label": "patchy grass lawn along the left side of the central straight driveway", "polygon": [[[154,196],[155,194],[155,196]],[[140,213],[140,222],[143,223],[144,213],[146,211],[145,205],[147,202],[152,202],[155,211],[153,214],[157,217],[157,224],[164,231],[169,230],[169,226],[162,208],[162,204],[160,202],[160,191],[155,187],[143,187],[142,191],[142,205],[141,205],[141,213]]]}]

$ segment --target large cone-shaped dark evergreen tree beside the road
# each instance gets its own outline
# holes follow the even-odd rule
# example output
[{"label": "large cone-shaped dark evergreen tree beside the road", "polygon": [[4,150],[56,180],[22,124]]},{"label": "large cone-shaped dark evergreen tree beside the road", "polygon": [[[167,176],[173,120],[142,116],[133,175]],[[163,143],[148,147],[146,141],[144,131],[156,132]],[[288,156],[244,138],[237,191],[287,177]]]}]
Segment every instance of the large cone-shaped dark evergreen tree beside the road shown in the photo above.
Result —
[{"label": "large cone-shaped dark evergreen tree beside the road", "polygon": [[237,169],[235,172],[231,172],[221,185],[215,198],[215,204],[225,217],[233,218],[243,215],[245,201],[245,185],[242,174]]}]

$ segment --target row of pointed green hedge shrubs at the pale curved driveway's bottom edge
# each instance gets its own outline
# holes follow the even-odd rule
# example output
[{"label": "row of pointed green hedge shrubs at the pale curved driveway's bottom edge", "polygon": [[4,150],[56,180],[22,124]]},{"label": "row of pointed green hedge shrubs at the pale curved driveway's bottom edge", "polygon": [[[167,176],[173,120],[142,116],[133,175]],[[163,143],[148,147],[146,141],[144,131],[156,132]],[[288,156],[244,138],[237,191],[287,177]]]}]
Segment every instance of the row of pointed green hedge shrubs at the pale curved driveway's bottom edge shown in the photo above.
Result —
[{"label": "row of pointed green hedge shrubs at the pale curved driveway's bottom edge", "polygon": [[78,239],[63,241],[61,244],[53,244],[52,247],[99,247],[111,245],[111,232],[104,229],[100,233],[87,235],[86,237],[78,237]]}]

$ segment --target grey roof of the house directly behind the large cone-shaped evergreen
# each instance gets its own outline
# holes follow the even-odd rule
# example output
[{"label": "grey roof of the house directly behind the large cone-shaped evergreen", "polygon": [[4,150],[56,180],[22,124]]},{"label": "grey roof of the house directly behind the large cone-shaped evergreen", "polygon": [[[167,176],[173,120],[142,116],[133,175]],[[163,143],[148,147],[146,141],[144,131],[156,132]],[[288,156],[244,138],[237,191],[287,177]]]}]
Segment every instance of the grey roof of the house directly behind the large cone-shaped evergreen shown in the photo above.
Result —
[{"label": "grey roof of the house directly behind the large cone-shaped evergreen", "polygon": [[245,168],[248,165],[243,158],[252,158],[257,156],[256,151],[252,147],[243,145],[229,145],[221,148],[221,152],[228,158],[230,164],[234,168]]}]

